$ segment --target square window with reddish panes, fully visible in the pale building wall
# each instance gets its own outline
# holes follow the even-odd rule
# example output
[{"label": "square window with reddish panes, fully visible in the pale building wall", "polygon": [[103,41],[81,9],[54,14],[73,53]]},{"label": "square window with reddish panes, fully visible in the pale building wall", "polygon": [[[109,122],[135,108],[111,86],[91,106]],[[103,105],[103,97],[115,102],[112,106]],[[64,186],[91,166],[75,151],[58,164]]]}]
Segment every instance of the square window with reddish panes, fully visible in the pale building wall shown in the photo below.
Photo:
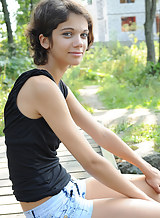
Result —
[{"label": "square window with reddish panes, fully visible in the pale building wall", "polygon": [[136,17],[121,18],[122,32],[136,31]]}]

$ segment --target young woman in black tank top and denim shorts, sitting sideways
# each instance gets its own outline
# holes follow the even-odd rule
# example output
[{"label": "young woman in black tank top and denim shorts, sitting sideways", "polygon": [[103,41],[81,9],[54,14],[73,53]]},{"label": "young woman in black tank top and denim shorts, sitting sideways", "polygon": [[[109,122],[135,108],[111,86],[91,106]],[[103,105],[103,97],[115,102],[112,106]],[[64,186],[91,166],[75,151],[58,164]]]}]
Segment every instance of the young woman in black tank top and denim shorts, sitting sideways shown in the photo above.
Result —
[{"label": "young woman in black tank top and denim shorts, sitting sideways", "polygon": [[[72,0],[42,0],[27,36],[37,67],[17,79],[4,112],[10,179],[26,217],[159,218],[160,172],[92,119],[61,80],[93,43],[88,12]],[[77,125],[144,176],[121,175]],[[92,178],[71,178],[60,165],[61,141]]]}]

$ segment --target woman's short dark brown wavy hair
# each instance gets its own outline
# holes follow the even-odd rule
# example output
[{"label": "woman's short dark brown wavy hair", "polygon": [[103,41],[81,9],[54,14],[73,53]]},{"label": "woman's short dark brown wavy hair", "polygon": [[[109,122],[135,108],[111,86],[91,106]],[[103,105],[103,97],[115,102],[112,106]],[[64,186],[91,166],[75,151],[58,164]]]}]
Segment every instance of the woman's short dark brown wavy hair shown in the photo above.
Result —
[{"label": "woman's short dark brown wavy hair", "polygon": [[48,50],[43,48],[39,41],[39,35],[43,34],[52,42],[52,31],[60,23],[67,21],[70,13],[82,15],[88,22],[88,48],[93,43],[93,22],[88,11],[73,0],[41,0],[35,7],[31,21],[26,29],[29,38],[33,59],[36,65],[44,65],[48,62]]}]

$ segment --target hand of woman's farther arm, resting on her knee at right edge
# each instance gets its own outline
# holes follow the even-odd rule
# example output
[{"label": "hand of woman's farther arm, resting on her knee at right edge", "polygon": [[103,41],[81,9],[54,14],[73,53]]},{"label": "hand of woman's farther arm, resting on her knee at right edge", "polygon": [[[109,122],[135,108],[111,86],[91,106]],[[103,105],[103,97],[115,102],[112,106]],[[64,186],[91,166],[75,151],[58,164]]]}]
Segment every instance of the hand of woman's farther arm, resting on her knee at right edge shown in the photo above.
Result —
[{"label": "hand of woman's farther arm, resting on her knee at right edge", "polygon": [[160,171],[155,167],[151,167],[150,173],[145,176],[148,185],[150,185],[158,194],[160,194]]}]

